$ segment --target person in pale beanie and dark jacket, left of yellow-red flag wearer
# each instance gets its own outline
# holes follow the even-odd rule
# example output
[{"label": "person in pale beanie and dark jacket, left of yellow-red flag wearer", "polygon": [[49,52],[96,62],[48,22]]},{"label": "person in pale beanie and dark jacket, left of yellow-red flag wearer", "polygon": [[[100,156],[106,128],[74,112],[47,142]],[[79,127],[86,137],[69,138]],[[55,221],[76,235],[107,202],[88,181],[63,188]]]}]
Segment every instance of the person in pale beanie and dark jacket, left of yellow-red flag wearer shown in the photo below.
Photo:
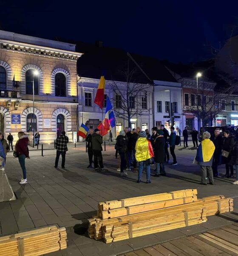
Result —
[{"label": "person in pale beanie and dark jacket, left of yellow-red flag wearer", "polygon": [[116,148],[120,155],[120,172],[121,176],[127,176],[127,172],[124,171],[126,168],[126,154],[127,154],[128,139],[125,131],[120,131],[116,138]]}]

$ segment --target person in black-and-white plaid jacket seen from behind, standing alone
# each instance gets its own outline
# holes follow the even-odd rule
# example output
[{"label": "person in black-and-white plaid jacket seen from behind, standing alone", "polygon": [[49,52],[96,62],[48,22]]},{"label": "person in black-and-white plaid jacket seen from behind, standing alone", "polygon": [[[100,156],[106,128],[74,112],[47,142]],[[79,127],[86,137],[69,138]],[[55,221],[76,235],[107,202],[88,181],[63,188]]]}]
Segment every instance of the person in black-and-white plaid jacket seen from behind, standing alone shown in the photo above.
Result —
[{"label": "person in black-and-white plaid jacket seen from behind, standing alone", "polygon": [[60,155],[62,156],[61,167],[65,168],[65,155],[66,155],[66,151],[68,151],[67,143],[68,143],[68,137],[65,135],[65,131],[62,131],[61,135],[57,137],[57,139],[55,140],[55,148],[56,148],[56,158],[55,158],[55,164],[54,164],[55,168],[58,167]]}]

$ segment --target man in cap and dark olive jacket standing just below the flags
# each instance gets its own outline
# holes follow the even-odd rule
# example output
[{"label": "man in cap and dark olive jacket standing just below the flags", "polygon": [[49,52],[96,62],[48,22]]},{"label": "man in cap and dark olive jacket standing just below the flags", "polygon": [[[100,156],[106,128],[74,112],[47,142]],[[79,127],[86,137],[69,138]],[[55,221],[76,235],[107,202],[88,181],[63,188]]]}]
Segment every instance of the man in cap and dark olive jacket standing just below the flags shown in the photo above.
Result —
[{"label": "man in cap and dark olive jacket standing just below the flags", "polygon": [[[96,128],[92,134],[93,154],[94,154],[94,169],[95,171],[104,172],[104,166],[102,162],[102,137],[99,134],[100,130]],[[99,166],[98,167],[98,163]]]}]

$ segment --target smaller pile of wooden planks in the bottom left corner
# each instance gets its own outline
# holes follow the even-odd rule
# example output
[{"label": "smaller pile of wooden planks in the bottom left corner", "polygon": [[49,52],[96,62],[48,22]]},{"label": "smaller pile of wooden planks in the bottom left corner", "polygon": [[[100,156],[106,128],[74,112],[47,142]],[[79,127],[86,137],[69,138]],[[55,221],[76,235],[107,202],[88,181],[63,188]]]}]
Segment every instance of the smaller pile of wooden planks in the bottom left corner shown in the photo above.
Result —
[{"label": "smaller pile of wooden planks in the bottom left corner", "polygon": [[0,237],[1,256],[39,256],[67,248],[64,227],[45,227]]}]

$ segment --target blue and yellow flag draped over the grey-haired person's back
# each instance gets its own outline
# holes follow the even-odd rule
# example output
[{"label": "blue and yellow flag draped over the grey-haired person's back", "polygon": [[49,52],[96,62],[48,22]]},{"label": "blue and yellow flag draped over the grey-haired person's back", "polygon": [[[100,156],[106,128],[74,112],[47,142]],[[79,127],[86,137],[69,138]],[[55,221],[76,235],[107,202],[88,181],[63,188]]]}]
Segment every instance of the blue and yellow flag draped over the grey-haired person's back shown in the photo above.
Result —
[{"label": "blue and yellow flag draped over the grey-haired person's back", "polygon": [[212,159],[215,146],[209,139],[202,140],[198,145],[196,160],[198,162],[209,162]]}]

